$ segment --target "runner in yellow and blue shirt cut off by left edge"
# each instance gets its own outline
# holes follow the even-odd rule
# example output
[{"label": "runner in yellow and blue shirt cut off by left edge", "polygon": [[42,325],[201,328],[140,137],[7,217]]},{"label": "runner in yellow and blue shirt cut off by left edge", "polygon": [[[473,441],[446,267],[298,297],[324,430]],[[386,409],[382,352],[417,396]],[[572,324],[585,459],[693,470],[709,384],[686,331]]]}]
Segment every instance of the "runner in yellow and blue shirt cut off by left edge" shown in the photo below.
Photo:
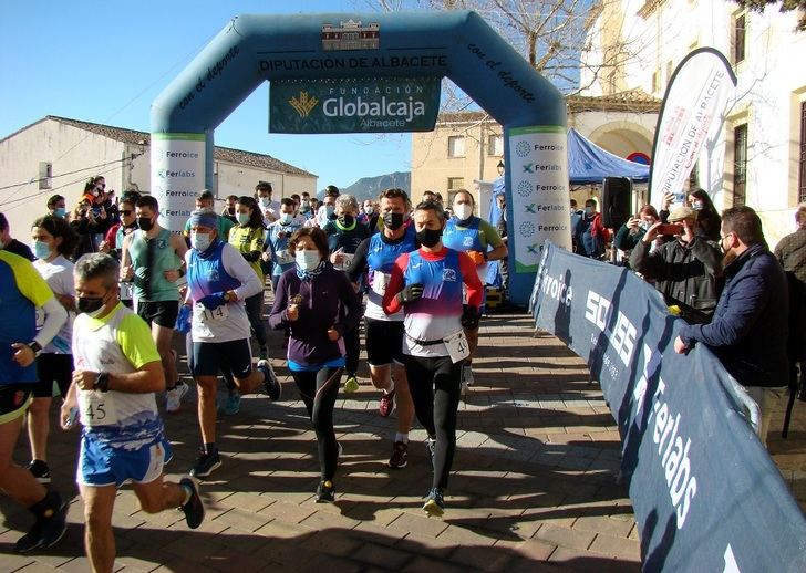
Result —
[{"label": "runner in yellow and blue shirt cut off by left edge", "polygon": [[[0,490],[35,518],[14,545],[18,553],[28,553],[50,548],[66,529],[69,503],[14,463],[12,454],[37,383],[34,358],[59,333],[68,313],[33,264],[3,247],[0,240]],[[39,332],[37,306],[44,310]]]}]

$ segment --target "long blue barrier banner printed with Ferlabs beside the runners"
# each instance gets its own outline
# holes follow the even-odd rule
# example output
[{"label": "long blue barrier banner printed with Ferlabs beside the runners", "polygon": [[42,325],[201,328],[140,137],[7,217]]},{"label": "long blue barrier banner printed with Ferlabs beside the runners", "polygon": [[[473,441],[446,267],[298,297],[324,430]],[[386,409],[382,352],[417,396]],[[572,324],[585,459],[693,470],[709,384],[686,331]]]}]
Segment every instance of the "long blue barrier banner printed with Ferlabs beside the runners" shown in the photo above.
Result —
[{"label": "long blue barrier banner printed with Ferlabs beside the runners", "polygon": [[622,438],[645,571],[806,571],[806,520],[742,414],[735,381],[631,271],[547,242],[535,324],[588,362]]}]

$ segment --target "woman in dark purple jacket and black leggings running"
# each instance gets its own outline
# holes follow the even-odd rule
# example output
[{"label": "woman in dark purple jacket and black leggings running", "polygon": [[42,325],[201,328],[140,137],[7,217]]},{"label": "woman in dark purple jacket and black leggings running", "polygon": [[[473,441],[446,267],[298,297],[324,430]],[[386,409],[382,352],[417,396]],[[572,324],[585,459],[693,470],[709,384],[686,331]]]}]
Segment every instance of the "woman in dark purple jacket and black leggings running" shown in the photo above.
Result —
[{"label": "woman in dark purple jacket and black leggings running", "polygon": [[347,274],[328,262],[328,238],[321,229],[299,229],[288,250],[296,264],[277,283],[269,325],[290,327],[288,369],[317,433],[321,469],[317,501],[328,502],[335,499],[339,445],[333,407],[344,372],[343,335],[358,327],[362,309]]}]

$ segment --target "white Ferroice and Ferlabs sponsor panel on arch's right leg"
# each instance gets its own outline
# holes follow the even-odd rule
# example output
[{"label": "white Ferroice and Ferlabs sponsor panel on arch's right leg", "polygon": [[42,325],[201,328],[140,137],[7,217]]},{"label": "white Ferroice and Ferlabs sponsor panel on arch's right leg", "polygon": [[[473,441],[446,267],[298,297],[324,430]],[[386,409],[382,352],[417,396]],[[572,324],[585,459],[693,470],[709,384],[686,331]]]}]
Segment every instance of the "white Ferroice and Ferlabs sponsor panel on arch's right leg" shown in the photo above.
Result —
[{"label": "white Ferroice and Ferlabs sponsor panel on arch's right leg", "polygon": [[514,127],[509,136],[515,272],[536,272],[546,239],[570,250],[568,136],[556,125]]}]

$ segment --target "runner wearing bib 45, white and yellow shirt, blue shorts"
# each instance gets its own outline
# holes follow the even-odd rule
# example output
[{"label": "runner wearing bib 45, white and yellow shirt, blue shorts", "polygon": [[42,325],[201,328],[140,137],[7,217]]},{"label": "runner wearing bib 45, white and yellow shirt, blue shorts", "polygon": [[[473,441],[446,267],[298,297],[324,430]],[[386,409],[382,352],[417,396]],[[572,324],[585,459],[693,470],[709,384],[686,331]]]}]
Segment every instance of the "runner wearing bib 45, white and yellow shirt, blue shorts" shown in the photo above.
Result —
[{"label": "runner wearing bib 45, white and yellow shirt, blue shorts", "polygon": [[190,529],[204,520],[192,478],[163,480],[170,460],[154,393],[165,374],[148,325],[117,298],[117,261],[86,254],[75,263],[79,296],[73,325],[73,384],[61,411],[73,425],[78,407],[83,431],[76,481],[84,501],[84,545],[93,571],[111,572],[115,562],[112,511],[117,489],[132,489],[146,513],[179,508]]}]

